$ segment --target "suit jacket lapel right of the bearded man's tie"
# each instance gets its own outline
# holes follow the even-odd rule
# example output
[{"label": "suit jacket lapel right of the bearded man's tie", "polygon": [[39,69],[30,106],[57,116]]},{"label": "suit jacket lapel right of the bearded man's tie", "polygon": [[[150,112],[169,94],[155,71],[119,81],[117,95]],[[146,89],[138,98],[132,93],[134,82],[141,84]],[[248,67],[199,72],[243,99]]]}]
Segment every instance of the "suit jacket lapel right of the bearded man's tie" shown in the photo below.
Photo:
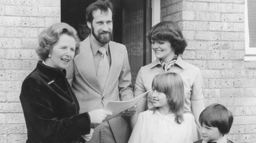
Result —
[{"label": "suit jacket lapel right of the bearded man's tie", "polygon": [[118,80],[123,65],[123,55],[118,47],[116,47],[115,42],[109,42],[109,50],[111,55],[111,66],[105,83],[103,96],[112,86],[114,86],[116,80]]}]

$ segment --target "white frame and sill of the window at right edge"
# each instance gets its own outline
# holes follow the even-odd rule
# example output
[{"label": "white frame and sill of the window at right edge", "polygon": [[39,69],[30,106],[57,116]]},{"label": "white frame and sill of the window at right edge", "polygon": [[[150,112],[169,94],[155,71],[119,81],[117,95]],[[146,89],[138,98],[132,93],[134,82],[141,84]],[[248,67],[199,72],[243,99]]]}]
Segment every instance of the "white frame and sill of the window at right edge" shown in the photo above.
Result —
[{"label": "white frame and sill of the window at right edge", "polygon": [[245,55],[244,61],[256,61],[256,47],[249,47],[249,26],[247,0],[244,1],[244,33],[245,33]]}]

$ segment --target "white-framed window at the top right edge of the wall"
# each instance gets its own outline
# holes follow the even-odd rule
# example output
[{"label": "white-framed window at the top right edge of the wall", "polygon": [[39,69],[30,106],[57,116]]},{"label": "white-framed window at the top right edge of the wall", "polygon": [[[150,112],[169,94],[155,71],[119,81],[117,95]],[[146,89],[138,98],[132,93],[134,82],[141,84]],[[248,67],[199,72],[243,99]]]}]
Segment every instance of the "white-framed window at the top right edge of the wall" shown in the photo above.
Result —
[{"label": "white-framed window at the top right edge of the wall", "polygon": [[256,1],[246,0],[244,5],[245,61],[256,61]]}]

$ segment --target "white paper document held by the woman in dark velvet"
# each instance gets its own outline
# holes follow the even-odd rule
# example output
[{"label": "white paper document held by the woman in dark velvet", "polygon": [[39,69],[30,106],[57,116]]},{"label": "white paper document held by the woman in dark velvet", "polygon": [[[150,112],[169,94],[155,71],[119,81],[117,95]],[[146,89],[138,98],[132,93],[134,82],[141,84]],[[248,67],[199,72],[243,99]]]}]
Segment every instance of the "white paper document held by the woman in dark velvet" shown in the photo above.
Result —
[{"label": "white paper document held by the woman in dark velvet", "polygon": [[119,116],[120,113],[123,112],[124,110],[130,109],[135,104],[137,104],[137,102],[139,102],[140,99],[142,99],[144,96],[146,96],[146,94],[148,92],[149,91],[142,93],[138,97],[128,100],[128,101],[109,101],[109,103],[107,104],[107,106],[105,107],[104,110],[108,110],[108,111],[112,112],[112,115],[107,115],[107,117],[103,121],[108,121],[114,117]]}]

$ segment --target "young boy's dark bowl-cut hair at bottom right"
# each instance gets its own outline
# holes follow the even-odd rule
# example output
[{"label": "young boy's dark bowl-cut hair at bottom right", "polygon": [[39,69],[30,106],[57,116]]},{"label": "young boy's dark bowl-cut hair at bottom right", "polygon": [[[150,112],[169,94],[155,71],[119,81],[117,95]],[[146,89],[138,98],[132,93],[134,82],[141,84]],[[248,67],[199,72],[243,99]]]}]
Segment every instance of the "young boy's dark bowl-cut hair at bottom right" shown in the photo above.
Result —
[{"label": "young boy's dark bowl-cut hair at bottom right", "polygon": [[233,115],[230,110],[221,104],[211,104],[206,107],[199,116],[202,126],[217,127],[221,134],[228,134],[233,123]]}]

